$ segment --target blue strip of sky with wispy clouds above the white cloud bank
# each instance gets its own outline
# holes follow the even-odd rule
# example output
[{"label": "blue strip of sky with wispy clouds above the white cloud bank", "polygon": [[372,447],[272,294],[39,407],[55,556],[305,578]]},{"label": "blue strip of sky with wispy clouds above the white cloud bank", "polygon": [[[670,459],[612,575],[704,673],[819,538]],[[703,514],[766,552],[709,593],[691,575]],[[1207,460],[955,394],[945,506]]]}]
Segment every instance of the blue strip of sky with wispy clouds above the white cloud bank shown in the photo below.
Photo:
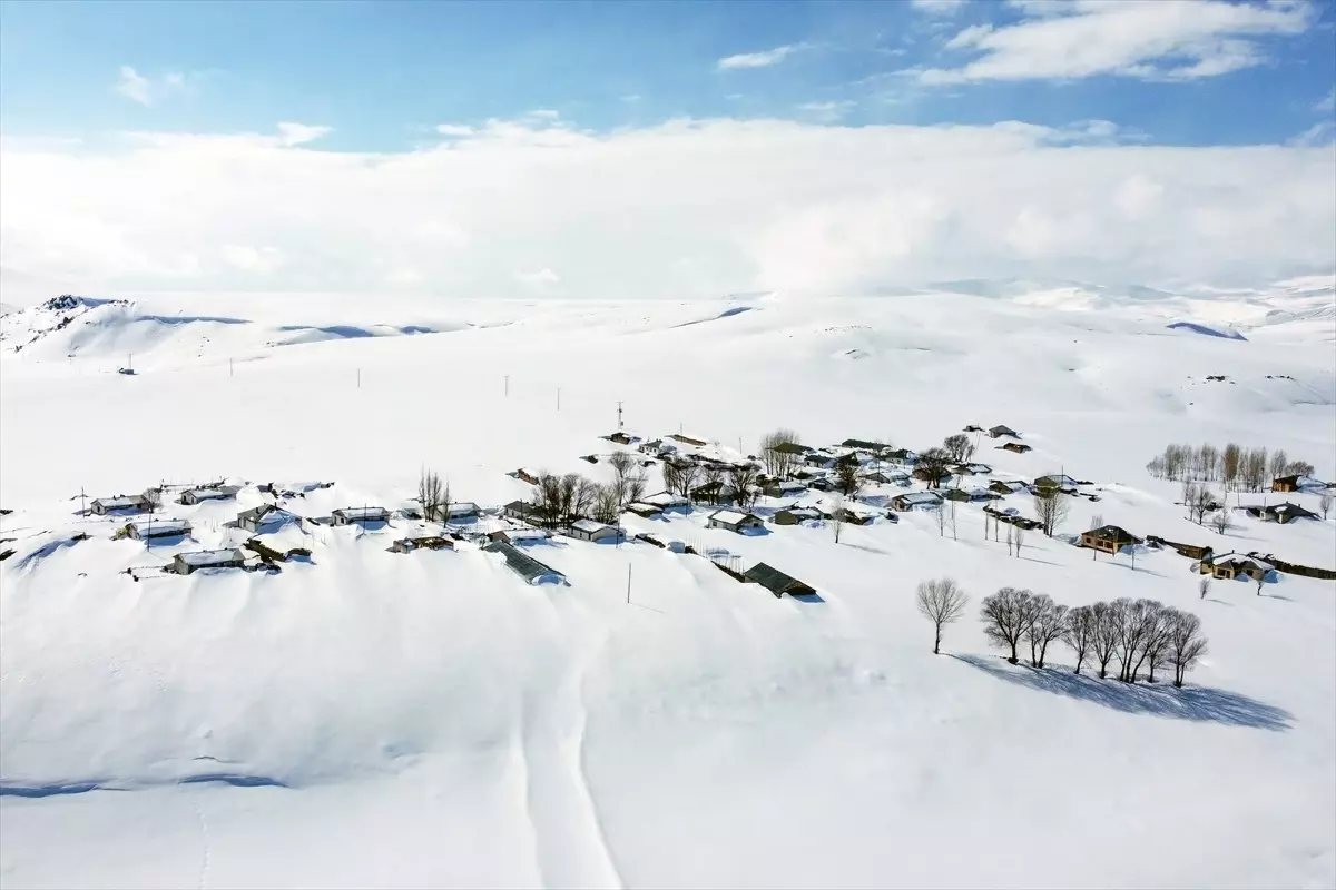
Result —
[{"label": "blue strip of sky with wispy clouds above the white cloud bank", "polygon": [[1186,145],[1329,136],[1331,4],[1114,5],[4,0],[0,131],[302,121],[331,128],[327,149],[394,151],[442,123],[548,109],[596,132],[779,117],[1109,120]]}]

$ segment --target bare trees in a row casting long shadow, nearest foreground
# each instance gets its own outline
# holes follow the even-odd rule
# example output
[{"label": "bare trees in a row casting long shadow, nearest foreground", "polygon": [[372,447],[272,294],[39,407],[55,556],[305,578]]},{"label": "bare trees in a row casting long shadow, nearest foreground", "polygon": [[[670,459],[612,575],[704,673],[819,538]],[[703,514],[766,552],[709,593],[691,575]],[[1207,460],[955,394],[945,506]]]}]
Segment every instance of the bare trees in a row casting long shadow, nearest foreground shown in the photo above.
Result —
[{"label": "bare trees in a row casting long shadow, nearest foreground", "polygon": [[[942,647],[943,628],[961,619],[969,596],[950,578],[925,580],[918,587],[918,610],[933,623],[933,654]],[[1009,651],[1015,664],[1019,650],[1030,650],[1030,666],[1043,667],[1049,646],[1065,643],[1075,654],[1073,673],[1079,674],[1089,659],[1098,664],[1100,679],[1109,664],[1118,662],[1118,679],[1134,683],[1146,670],[1146,682],[1156,682],[1156,670],[1172,666],[1174,686],[1206,654],[1201,619],[1153,599],[1129,599],[1067,608],[1047,594],[1003,587],[986,596],[979,607],[983,632],[994,646]]]}]

